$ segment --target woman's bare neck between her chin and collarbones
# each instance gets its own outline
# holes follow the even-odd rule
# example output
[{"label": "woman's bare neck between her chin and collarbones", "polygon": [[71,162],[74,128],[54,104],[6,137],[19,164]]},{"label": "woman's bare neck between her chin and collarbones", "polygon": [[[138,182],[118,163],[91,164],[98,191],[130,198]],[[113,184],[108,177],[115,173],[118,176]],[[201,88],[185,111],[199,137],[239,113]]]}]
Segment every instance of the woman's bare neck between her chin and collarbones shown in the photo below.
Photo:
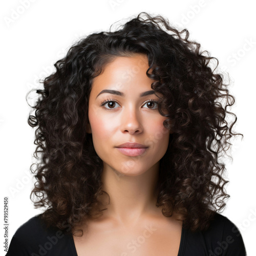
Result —
[{"label": "woman's bare neck between her chin and collarbones", "polygon": [[162,215],[161,209],[156,207],[158,174],[159,162],[136,176],[121,175],[104,164],[101,180],[103,190],[110,196],[105,217],[129,225],[145,217]]}]

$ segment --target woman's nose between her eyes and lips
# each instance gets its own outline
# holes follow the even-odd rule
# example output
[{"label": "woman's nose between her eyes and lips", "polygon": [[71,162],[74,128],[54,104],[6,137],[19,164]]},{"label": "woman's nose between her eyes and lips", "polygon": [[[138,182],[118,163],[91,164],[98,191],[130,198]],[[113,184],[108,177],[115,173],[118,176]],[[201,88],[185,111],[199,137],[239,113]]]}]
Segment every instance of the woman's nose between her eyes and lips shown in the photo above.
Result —
[{"label": "woman's nose between her eyes and lips", "polygon": [[123,111],[121,130],[123,133],[139,134],[143,131],[140,112],[134,106]]}]

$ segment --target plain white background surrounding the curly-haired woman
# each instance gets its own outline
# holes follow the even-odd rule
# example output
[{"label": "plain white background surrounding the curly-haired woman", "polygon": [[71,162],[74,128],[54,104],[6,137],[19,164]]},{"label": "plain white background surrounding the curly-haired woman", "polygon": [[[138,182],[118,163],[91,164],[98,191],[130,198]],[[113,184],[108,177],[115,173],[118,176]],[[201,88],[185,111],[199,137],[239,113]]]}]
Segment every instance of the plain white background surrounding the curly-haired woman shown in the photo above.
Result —
[{"label": "plain white background surrounding the curly-haired woman", "polygon": [[[22,4],[23,3],[23,4]],[[235,223],[248,255],[254,255],[255,201],[255,9],[253,1],[50,1],[13,0],[1,8],[1,218],[4,196],[9,197],[9,243],[16,229],[40,213],[29,199],[34,180],[29,173],[35,150],[34,131],[27,119],[26,93],[38,87],[38,79],[54,71],[79,37],[108,31],[141,11],[161,14],[178,28],[187,28],[190,39],[217,57],[231,78],[231,109],[238,121],[233,142],[233,162],[226,159],[226,186],[231,196],[222,215]],[[23,5],[25,7],[23,7]],[[123,22],[122,20],[123,19]],[[16,190],[14,190],[16,189]],[[254,231],[254,232],[253,232]],[[3,229],[2,229],[3,232]],[[4,233],[4,232],[3,232]],[[254,239],[253,239],[254,236]],[[1,244],[4,238],[1,235]],[[0,248],[3,253],[3,247]]]}]

